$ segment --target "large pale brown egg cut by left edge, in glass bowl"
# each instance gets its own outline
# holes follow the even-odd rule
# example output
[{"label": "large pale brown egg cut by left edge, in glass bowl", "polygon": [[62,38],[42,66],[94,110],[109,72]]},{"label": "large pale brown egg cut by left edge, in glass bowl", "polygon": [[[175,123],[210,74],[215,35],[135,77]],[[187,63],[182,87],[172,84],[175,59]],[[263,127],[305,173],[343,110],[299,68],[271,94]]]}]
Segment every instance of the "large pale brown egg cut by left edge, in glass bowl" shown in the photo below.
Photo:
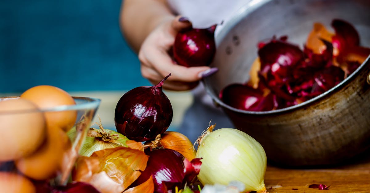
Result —
[{"label": "large pale brown egg cut by left edge, in glass bowl", "polygon": [[44,115],[27,99],[1,100],[0,123],[0,162],[30,155],[45,139]]}]

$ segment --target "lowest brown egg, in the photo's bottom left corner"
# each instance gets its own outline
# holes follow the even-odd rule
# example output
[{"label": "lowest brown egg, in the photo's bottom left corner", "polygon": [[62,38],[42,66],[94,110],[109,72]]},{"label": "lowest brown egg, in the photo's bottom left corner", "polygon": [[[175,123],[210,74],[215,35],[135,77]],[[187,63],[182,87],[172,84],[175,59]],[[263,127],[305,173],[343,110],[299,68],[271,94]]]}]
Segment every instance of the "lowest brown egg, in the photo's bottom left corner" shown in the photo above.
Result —
[{"label": "lowest brown egg, in the photo's bottom left corner", "polygon": [[0,172],[0,192],[36,193],[36,187],[24,176],[16,173]]}]

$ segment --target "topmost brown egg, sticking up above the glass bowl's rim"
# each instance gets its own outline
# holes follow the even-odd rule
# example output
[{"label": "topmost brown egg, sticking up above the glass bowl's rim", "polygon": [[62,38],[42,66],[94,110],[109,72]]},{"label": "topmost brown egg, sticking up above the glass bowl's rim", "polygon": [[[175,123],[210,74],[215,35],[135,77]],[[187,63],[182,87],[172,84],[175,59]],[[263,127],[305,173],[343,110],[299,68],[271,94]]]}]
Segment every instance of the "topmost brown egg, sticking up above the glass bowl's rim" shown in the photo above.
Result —
[{"label": "topmost brown egg, sticking up above the glass bowl's rim", "polygon": [[[75,104],[74,99],[68,92],[50,85],[32,87],[23,92],[21,98],[32,101],[40,109]],[[77,111],[51,111],[46,112],[45,117],[48,127],[59,127],[64,131],[68,131],[77,119]]]}]

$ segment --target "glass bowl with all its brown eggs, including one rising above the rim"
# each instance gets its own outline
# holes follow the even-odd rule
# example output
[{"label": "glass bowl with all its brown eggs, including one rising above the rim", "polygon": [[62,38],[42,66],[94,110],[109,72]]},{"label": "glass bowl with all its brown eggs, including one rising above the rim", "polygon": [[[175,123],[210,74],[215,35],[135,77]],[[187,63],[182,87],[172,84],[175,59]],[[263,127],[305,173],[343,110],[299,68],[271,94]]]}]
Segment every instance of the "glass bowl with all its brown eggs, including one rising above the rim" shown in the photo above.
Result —
[{"label": "glass bowl with all its brown eggs, including one rising above the rim", "polygon": [[[0,98],[0,184],[11,192],[25,192],[24,186],[33,192],[36,182],[66,183],[99,105],[100,99],[51,85]],[[78,134],[70,139],[73,127]],[[5,183],[9,176],[20,183]]]}]

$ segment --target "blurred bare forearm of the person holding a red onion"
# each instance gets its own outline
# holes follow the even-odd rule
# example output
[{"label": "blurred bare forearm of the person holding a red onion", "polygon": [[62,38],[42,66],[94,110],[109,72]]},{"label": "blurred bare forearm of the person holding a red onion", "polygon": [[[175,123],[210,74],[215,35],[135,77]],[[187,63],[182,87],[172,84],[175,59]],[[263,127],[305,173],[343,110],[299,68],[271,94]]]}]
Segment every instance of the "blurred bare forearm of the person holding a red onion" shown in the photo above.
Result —
[{"label": "blurred bare forearm of the person holding a red onion", "polygon": [[120,28],[128,44],[137,53],[155,27],[174,17],[165,0],[122,0]]}]

